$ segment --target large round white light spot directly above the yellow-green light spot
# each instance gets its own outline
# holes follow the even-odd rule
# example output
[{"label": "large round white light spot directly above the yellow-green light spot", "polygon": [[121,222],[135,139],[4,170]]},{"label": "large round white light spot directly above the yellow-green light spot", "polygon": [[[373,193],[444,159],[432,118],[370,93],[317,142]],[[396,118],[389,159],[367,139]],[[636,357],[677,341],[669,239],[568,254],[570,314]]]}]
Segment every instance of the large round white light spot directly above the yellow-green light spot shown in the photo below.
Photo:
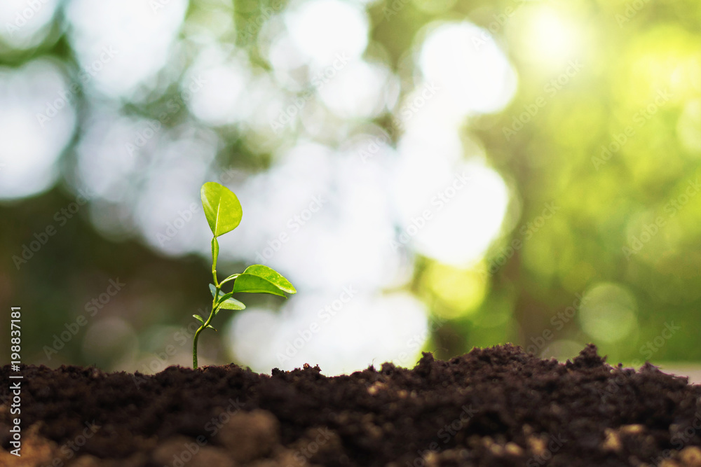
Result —
[{"label": "large round white light spot directly above the yellow-green light spot", "polygon": [[[432,153],[441,153],[433,141]],[[442,263],[465,266],[482,258],[501,231],[509,192],[501,176],[476,158],[428,157],[418,144],[400,146],[395,204],[402,213],[397,242]],[[444,156],[445,157],[445,156]]]}]

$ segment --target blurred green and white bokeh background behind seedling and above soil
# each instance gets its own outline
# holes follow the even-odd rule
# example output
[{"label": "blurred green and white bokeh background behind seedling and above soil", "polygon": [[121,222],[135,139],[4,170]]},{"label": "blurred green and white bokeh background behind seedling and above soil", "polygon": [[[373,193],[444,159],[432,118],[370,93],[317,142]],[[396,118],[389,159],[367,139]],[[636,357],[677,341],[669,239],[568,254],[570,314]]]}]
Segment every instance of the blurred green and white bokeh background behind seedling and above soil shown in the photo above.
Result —
[{"label": "blurred green and white bokeh background behind seedling and above soil", "polygon": [[261,263],[299,293],[240,294],[200,365],[699,361],[700,21],[691,0],[3,1],[23,363],[191,365],[205,181],[243,204],[221,277]]}]

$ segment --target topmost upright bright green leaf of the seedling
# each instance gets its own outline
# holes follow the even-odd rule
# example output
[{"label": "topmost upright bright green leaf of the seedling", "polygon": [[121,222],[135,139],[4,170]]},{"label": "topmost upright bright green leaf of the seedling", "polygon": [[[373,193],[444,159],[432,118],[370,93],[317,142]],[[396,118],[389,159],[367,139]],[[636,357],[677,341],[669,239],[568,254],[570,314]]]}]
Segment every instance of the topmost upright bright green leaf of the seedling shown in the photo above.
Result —
[{"label": "topmost upright bright green leaf of the seedling", "polygon": [[241,203],[229,188],[215,181],[208,181],[202,186],[200,197],[207,223],[215,237],[231,232],[241,223]]}]

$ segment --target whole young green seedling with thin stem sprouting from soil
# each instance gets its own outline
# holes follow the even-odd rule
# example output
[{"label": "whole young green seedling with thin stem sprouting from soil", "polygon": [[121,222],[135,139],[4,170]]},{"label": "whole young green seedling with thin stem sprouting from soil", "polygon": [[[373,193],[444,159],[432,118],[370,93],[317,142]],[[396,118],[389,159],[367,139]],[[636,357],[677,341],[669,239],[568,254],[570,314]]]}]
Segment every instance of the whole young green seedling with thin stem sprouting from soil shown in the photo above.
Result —
[{"label": "whole young green seedling with thin stem sprouting from soil", "polygon": [[[221,237],[238,227],[238,224],[241,223],[243,210],[238,197],[233,194],[233,191],[213,181],[208,181],[202,186],[200,196],[202,197],[202,207],[205,209],[207,223],[209,223],[212,235],[214,235],[212,238],[212,280],[214,284],[210,284],[210,291],[212,292],[212,311],[210,316],[205,321],[198,314],[192,315],[202,323],[202,326],[196,330],[193,338],[193,368],[197,368],[197,339],[204,329],[215,329],[211,324],[212,319],[222,309],[237,310],[246,307],[246,305],[232,297],[234,293],[271,293],[272,295],[280,295],[280,297],[287,297],[285,292],[297,293],[290,281],[285,279],[280,273],[264,265],[249,266],[244,272],[231,274],[231,276],[219,282],[217,279],[217,257],[219,256],[217,237]],[[231,283],[229,284],[231,285],[231,292],[224,293],[222,286],[229,282]]]}]

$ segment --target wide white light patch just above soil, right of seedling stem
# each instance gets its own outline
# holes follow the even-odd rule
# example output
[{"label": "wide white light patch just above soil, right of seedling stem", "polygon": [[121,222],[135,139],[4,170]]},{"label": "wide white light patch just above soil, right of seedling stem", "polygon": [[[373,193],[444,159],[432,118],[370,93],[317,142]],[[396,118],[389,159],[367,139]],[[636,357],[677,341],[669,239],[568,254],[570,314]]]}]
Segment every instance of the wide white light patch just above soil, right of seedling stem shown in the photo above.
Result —
[{"label": "wide white light patch just above soil, right of seedling stem", "polygon": [[309,363],[320,365],[327,376],[384,361],[413,367],[429,335],[426,308],[416,298],[374,295],[351,285],[325,293],[300,291],[280,314],[245,309],[226,333],[232,358],[254,371]]}]

